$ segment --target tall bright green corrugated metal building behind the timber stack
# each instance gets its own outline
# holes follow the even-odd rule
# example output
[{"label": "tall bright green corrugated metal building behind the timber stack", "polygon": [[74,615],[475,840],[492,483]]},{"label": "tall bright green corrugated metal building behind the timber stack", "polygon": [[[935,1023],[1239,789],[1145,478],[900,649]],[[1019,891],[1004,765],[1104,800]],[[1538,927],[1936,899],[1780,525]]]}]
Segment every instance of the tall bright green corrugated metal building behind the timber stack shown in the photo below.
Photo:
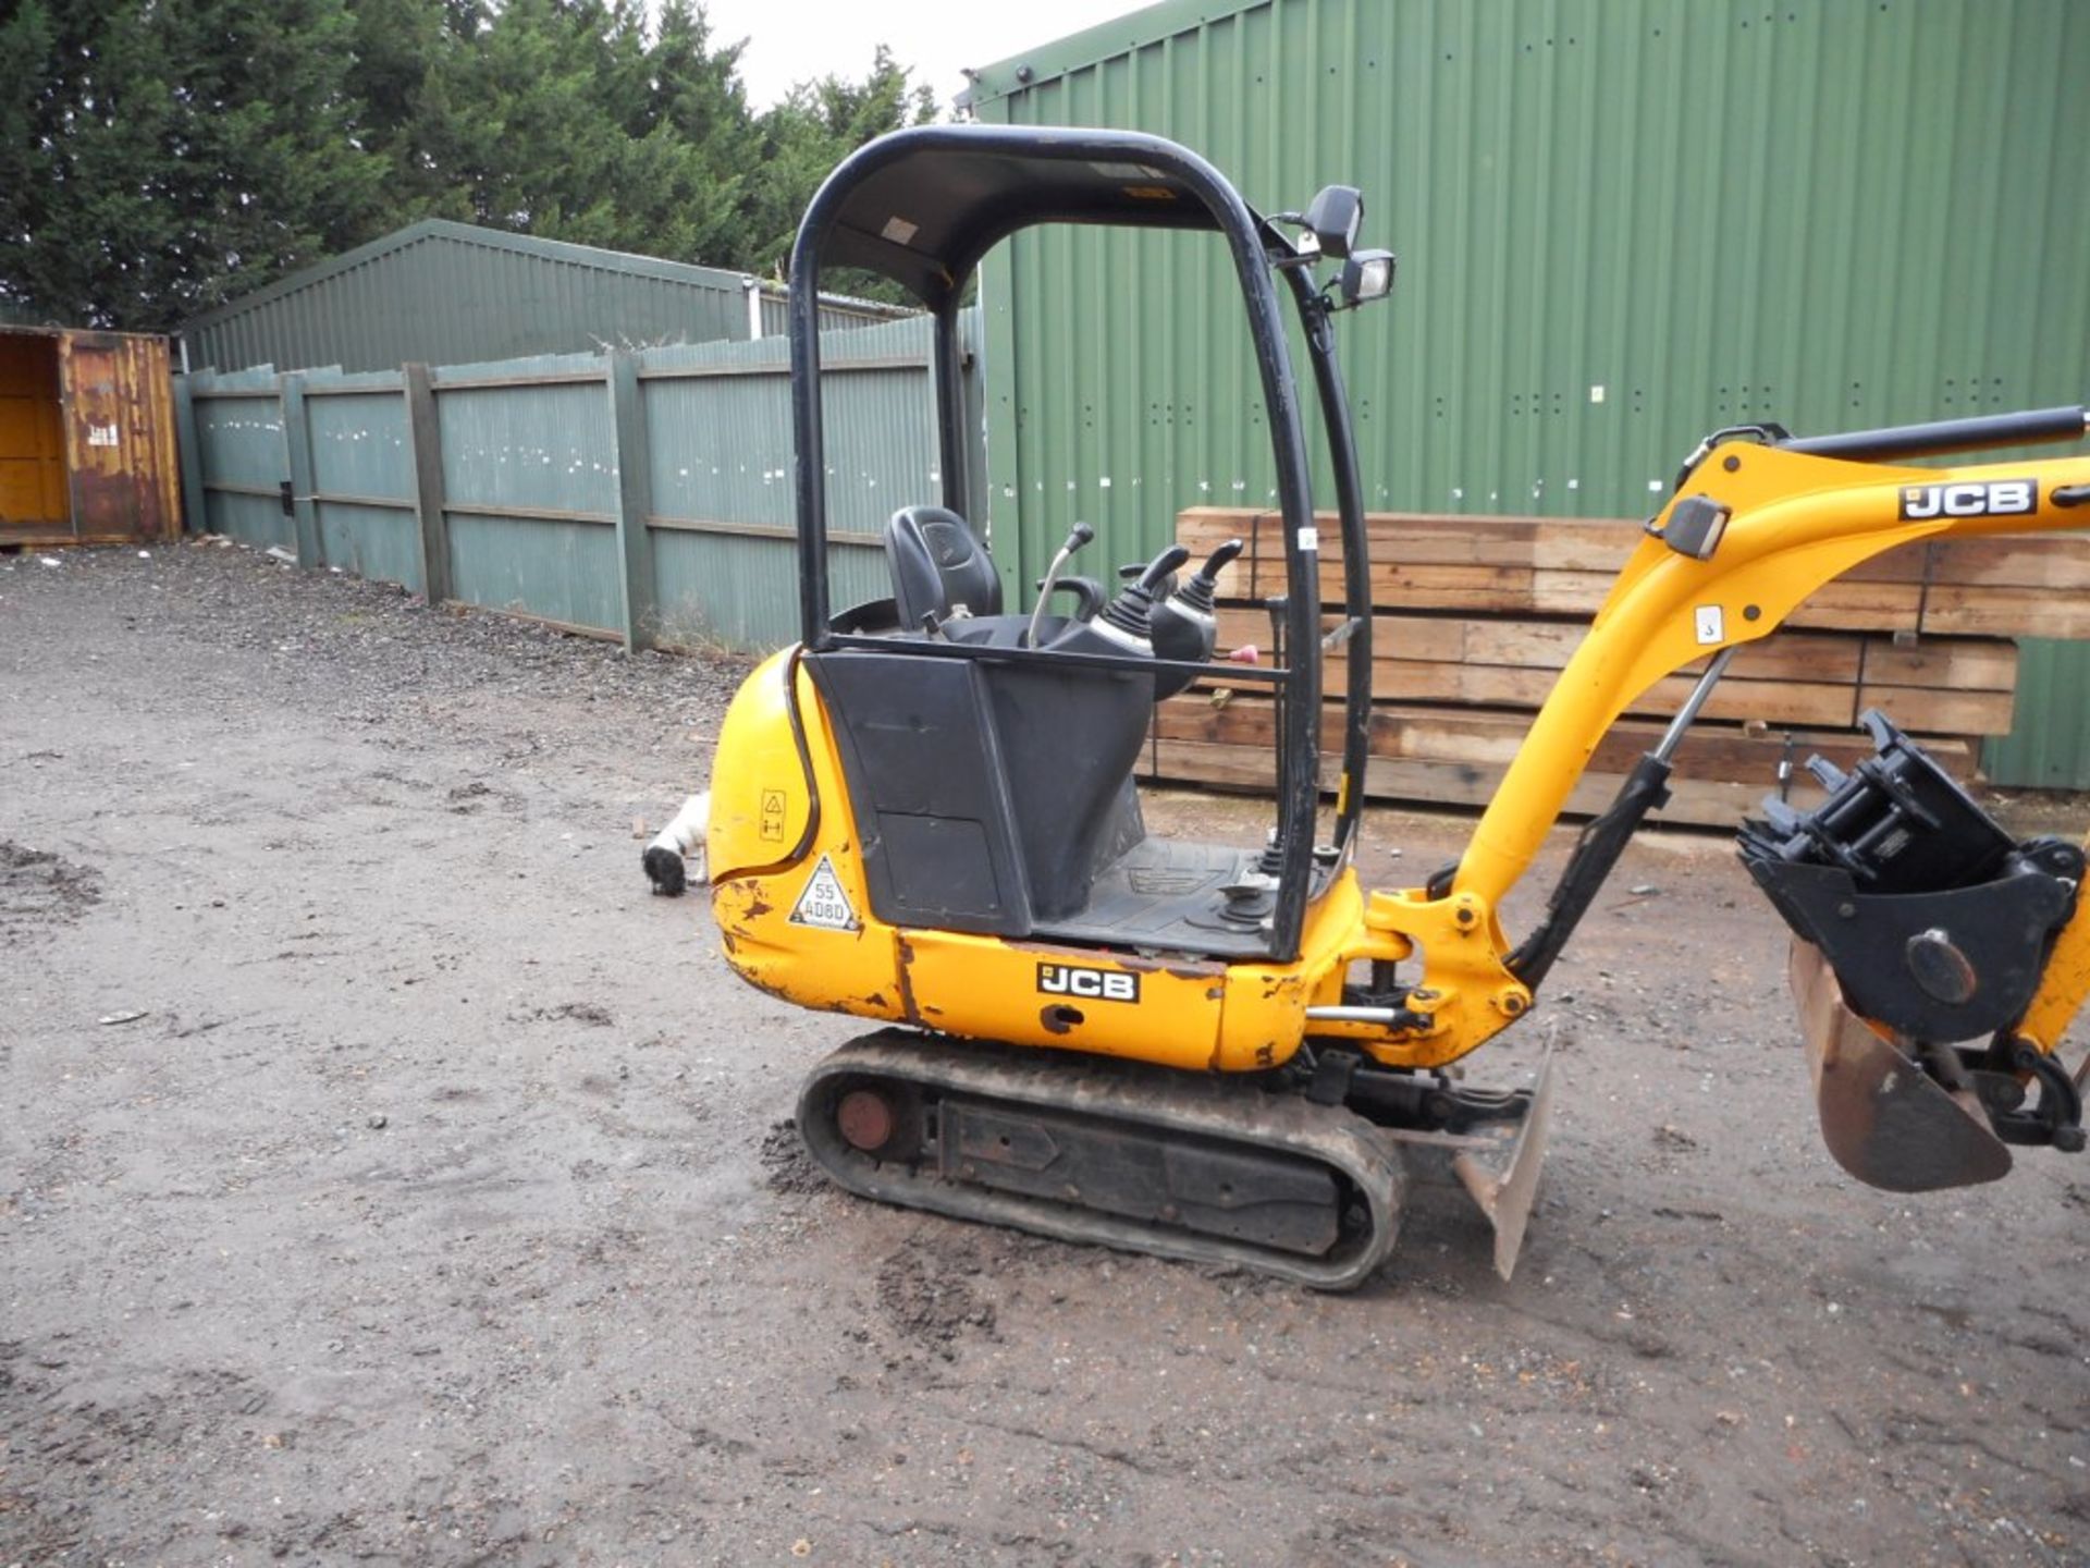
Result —
[{"label": "tall bright green corrugated metal building behind the timber stack", "polygon": [[[982,69],[972,109],[1172,136],[1264,211],[1363,186],[1400,253],[1342,326],[1369,504],[1620,516],[1720,424],[2090,393],[2086,79],[2075,0],[1166,0]],[[1131,560],[1183,506],[1271,498],[1231,293],[1210,236],[995,253],[1018,575],[1076,518]],[[2090,788],[2090,661],[2040,659],[2038,769],[1992,767]]]}]

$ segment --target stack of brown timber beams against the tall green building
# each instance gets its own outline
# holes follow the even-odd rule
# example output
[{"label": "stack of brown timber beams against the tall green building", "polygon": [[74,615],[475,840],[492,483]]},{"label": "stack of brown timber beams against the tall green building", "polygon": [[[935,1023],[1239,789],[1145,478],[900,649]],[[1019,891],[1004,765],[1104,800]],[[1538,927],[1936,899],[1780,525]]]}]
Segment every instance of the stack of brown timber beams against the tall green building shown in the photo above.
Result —
[{"label": "stack of brown timber beams against the tall green building", "polygon": [[[1225,539],[1246,550],[1221,577],[1221,654],[1271,646],[1262,600],[1285,592],[1281,518],[1193,508],[1177,537],[1193,558]],[[1611,590],[1641,525],[1609,518],[1415,516],[1377,512],[1371,537],[1371,748],[1365,792],[1386,801],[1484,805],[1532,713]],[[1323,625],[1342,604],[1340,533],[1321,518]],[[1731,828],[1783,786],[1818,799],[1810,755],[1850,767],[1871,755],[1856,730],[1883,709],[1954,778],[1971,780],[1981,736],[2006,734],[2015,636],[2090,636],[2090,537],[1942,539],[1887,552],[1808,598],[1774,636],[1737,650],[1676,755],[1662,820]],[[1264,654],[1267,656],[1267,654]],[[1655,684],[1605,736],[1570,811],[1601,811],[1662,736],[1699,667]],[[1342,690],[1342,654],[1323,684]],[[1162,702],[1145,776],[1271,788],[1275,707],[1264,688],[1204,682]],[[1340,705],[1321,728],[1323,784],[1340,769]]]}]

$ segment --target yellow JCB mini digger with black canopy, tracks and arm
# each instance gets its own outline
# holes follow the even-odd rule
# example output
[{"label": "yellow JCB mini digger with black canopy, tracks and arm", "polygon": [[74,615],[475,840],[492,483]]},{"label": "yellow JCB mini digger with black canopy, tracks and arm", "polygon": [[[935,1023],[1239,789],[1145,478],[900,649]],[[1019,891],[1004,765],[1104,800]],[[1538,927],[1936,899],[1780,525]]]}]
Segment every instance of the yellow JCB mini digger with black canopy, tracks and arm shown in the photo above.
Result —
[{"label": "yellow JCB mini digger with black canopy, tracks and arm", "polygon": [[[1720,431],[1685,462],[1457,863],[1367,891],[1358,843],[1371,602],[1336,316],[1384,295],[1331,186],[1260,217],[1183,146],[1124,132],[938,125],[872,142],[813,199],[792,253],[803,640],[727,713],[713,771],[713,909],[732,966],[788,1001],[878,1020],[807,1081],[798,1127],[851,1192],[1047,1236],[1344,1288],[1388,1254],[1411,1169],[1455,1175],[1515,1261],[1551,1083],[1444,1068],[1530,1016],[1605,874],[1666,799],[1670,757],[1728,654],[1816,587],[1910,539],[2090,525],[2090,458],[1904,458],[2084,435],[2084,410],[1793,439]],[[1210,661],[1214,575],[1181,548],[1116,594],[1060,579],[1005,606],[970,523],[957,309],[1032,224],[1210,230],[1256,349],[1290,592],[1269,667]],[[940,489],[892,514],[892,596],[828,602],[821,270],[869,268],[936,318]],[[1344,606],[1323,627],[1298,316],[1336,477]],[[1068,598],[1060,598],[1068,594]],[[1321,809],[1323,659],[1340,654],[1340,788]],[[1545,918],[1503,928],[1603,732],[1708,659],[1668,734],[1590,822]],[[1260,849],[1150,838],[1133,788],[1152,707],[1223,669],[1279,711]],[[2013,840],[1883,717],[1877,757],[1820,767],[1741,855],[1795,930],[1791,981],[1829,1148],[1894,1190],[2000,1177],[2008,1146],[2080,1150],[2057,1060],[2090,989],[2084,851]]]}]

